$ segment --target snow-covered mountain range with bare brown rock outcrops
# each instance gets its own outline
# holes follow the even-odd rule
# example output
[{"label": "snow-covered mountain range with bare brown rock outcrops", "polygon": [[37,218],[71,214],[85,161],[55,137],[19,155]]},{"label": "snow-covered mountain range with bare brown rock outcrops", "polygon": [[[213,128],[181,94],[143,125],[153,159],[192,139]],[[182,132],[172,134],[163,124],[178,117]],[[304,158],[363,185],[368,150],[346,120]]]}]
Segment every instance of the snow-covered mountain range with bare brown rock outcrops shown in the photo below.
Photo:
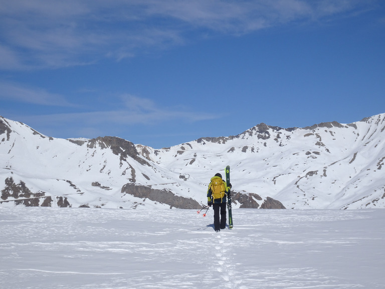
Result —
[{"label": "snow-covered mountain range with bare brown rock outcrops", "polygon": [[0,205],[199,208],[231,166],[233,207],[385,208],[385,113],[304,128],[258,124],[155,150],[60,139],[0,116]]}]

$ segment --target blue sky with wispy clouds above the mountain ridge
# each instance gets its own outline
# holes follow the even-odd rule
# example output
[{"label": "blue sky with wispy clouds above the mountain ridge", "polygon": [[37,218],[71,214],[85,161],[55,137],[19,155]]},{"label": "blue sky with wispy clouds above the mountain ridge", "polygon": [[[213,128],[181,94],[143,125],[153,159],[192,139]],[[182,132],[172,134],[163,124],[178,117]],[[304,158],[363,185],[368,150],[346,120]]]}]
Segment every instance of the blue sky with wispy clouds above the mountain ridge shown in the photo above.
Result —
[{"label": "blue sky with wispy clouds above the mountain ridge", "polygon": [[160,149],[385,112],[385,2],[0,0],[0,115]]}]

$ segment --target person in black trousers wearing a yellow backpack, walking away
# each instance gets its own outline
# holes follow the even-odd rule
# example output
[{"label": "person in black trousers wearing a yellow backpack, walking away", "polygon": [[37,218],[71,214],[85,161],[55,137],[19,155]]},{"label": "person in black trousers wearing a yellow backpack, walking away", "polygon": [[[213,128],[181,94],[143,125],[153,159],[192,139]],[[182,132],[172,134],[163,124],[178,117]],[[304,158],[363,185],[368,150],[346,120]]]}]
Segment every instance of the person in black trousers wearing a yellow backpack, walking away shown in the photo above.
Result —
[{"label": "person in black trousers wearing a yellow backpack, walking away", "polygon": [[209,207],[213,206],[214,230],[216,232],[226,228],[226,202],[231,187],[231,184],[228,187],[226,182],[222,180],[220,173],[215,174],[210,180],[209,189],[207,190],[207,205]]}]

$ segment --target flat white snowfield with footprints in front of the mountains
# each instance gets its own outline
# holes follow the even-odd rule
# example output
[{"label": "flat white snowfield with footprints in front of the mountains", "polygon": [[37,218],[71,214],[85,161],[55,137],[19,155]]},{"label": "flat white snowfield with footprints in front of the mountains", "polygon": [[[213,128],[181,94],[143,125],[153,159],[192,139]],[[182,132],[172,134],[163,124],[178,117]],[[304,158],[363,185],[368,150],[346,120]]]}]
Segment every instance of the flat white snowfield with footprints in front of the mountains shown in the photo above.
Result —
[{"label": "flat white snowfield with footprints in front of the mountains", "polygon": [[0,287],[383,288],[385,209],[0,207]]}]

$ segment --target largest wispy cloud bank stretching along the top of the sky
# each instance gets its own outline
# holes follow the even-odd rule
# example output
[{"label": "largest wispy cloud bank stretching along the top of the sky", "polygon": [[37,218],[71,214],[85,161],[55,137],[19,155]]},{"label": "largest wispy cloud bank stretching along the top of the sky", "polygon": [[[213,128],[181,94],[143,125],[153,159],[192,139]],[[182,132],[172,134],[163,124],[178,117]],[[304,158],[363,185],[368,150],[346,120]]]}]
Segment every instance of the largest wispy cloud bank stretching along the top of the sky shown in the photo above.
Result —
[{"label": "largest wispy cloud bank stretching along the top of the sky", "polygon": [[376,0],[13,0],[0,5],[0,69],[62,67],[183,44],[201,30],[239,35],[314,21]]}]

